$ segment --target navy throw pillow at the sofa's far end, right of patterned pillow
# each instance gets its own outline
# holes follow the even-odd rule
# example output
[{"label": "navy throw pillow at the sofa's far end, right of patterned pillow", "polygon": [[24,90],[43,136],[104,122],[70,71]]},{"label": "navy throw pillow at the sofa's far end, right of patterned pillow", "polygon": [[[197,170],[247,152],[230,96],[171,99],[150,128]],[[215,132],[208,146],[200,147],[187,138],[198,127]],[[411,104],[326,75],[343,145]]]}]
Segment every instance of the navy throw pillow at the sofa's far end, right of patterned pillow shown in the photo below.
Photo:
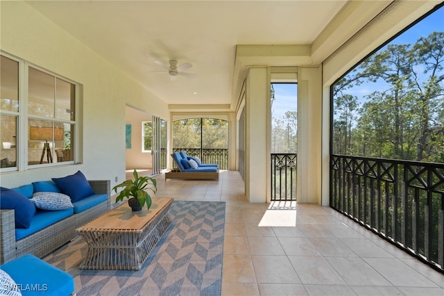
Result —
[{"label": "navy throw pillow at the sofa's far end, right of patterned pillow", "polygon": [[52,178],[52,180],[62,193],[71,197],[71,202],[78,202],[80,199],[94,195],[91,185],[80,171],[63,178]]}]

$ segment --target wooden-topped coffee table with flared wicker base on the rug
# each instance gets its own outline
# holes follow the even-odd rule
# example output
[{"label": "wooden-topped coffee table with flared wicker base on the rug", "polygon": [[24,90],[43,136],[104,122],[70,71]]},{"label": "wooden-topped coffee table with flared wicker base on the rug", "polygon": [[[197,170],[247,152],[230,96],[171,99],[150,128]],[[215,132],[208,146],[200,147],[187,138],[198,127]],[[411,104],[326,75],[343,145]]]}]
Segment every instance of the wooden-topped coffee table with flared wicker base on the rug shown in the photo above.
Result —
[{"label": "wooden-topped coffee table with flared wicker base on the rug", "polygon": [[87,270],[139,270],[171,225],[172,198],[155,198],[151,208],[133,212],[127,203],[76,229],[88,244],[80,265]]}]

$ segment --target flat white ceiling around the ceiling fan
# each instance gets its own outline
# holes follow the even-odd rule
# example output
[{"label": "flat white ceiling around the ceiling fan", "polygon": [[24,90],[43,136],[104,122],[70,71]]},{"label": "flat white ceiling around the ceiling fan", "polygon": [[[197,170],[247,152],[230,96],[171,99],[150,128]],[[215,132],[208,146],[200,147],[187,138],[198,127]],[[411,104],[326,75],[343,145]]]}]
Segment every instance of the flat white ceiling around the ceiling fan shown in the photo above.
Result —
[{"label": "flat white ceiling around the ceiling fan", "polygon": [[[28,3],[168,104],[230,104],[237,44],[312,44],[350,4],[334,0]],[[359,17],[355,15],[355,20]],[[150,73],[163,71],[154,60],[171,59],[178,65],[191,63],[186,72],[197,77],[170,81],[167,72]]]}]

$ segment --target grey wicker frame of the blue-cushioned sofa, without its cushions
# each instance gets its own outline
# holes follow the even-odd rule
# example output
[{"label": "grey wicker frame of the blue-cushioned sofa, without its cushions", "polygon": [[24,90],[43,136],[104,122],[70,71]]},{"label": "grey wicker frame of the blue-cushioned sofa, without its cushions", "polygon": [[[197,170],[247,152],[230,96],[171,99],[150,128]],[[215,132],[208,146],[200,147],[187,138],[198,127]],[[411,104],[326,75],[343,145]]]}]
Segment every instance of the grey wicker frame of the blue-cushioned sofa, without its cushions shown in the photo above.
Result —
[{"label": "grey wicker frame of the blue-cushioned sofa, without its cushions", "polygon": [[78,235],[76,233],[78,227],[109,211],[110,180],[88,180],[88,182],[94,194],[108,196],[106,202],[75,213],[20,240],[15,240],[14,210],[0,210],[0,264],[24,254],[33,254],[42,258],[75,238]]}]

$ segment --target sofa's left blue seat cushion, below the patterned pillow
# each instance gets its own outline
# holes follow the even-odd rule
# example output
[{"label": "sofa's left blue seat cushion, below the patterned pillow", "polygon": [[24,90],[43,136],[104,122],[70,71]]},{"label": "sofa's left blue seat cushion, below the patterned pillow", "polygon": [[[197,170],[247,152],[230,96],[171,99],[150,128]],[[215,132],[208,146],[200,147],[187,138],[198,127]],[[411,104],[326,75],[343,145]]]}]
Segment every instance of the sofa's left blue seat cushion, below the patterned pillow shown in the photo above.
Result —
[{"label": "sofa's left blue seat cushion, below the patterned pillow", "polygon": [[29,226],[29,228],[15,229],[15,240],[25,238],[26,236],[29,236],[41,229],[44,229],[45,227],[49,227],[49,225],[59,222],[60,220],[69,217],[73,213],[74,211],[72,208],[62,211],[37,211],[33,217],[33,220],[31,221],[31,225]]}]

